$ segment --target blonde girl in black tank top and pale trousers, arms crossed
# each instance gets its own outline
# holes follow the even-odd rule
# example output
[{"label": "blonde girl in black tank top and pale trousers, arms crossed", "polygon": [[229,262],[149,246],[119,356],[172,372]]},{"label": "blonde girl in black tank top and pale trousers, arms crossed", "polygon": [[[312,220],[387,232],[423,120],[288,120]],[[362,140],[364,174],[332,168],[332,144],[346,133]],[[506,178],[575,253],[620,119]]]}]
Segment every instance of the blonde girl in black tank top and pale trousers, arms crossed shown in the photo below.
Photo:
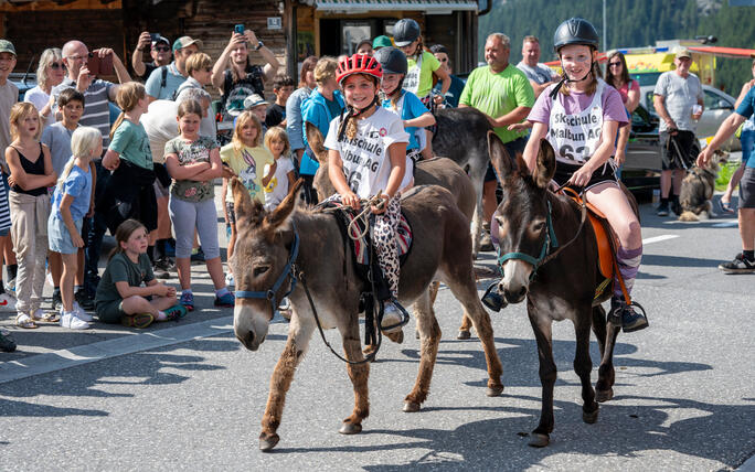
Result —
[{"label": "blonde girl in black tank top and pale trousers, arms crossed", "polygon": [[47,256],[50,216],[47,187],[57,176],[52,167],[50,149],[40,142],[40,114],[32,104],[15,104],[10,114],[13,142],[6,149],[11,186],[8,201],[11,211],[11,239],[19,264],[15,278],[15,323],[36,328],[35,320],[56,321],[42,311],[44,261]]}]

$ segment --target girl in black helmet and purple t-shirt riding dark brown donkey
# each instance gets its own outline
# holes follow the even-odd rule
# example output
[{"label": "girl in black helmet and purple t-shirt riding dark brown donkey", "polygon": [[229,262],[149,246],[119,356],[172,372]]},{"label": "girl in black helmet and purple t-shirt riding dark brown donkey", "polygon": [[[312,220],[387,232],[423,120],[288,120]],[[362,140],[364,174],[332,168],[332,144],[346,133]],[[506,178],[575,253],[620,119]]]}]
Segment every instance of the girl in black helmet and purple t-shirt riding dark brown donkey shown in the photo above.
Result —
[{"label": "girl in black helmet and purple t-shirt riding dark brown donkey", "polygon": [[[642,258],[642,235],[637,216],[616,181],[614,137],[627,125],[621,97],[592,73],[597,57],[598,35],[586,20],[572,18],[555,32],[554,49],[564,71],[559,84],[540,95],[528,120],[533,122],[524,161],[536,167],[541,138],[546,138],[556,153],[554,180],[584,189],[585,196],[606,215],[619,240],[616,259],[627,292]],[[603,139],[608,137],[608,139]],[[609,320],[625,332],[648,326],[648,320],[627,305],[616,280]]]}]

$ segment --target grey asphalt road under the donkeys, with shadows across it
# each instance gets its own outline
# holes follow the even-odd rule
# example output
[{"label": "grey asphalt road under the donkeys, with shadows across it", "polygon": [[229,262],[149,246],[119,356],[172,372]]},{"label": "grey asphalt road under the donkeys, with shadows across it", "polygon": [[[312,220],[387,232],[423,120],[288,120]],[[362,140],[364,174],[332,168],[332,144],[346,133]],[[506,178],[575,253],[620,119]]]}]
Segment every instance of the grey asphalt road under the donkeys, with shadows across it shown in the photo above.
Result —
[{"label": "grey asphalt road under the donkeys, with shadows across it", "polygon": [[[421,412],[401,411],[418,364],[418,341],[406,328],[404,343],[386,341],[371,366],[364,431],[339,435],[351,384],[315,337],[287,398],[280,443],[263,454],[259,422],[287,324],[277,320],[258,352],[244,350],[231,311],[211,308],[209,278],[194,266],[201,310],[180,323],[13,330],[19,351],[0,353],[0,469],[736,469],[755,454],[755,276],[716,269],[738,250],[732,219],[682,224],[651,213],[642,205],[635,288],[650,328],[619,336],[616,397],[600,406],[597,423],[585,425],[573,328],[554,326],[555,430],[545,449],[527,446],[540,382],[523,304],[492,314],[506,390],[488,398],[480,344],[455,339],[460,307],[442,290],[435,307],[444,337]],[[0,315],[0,324],[10,319]],[[340,345],[336,332],[327,334]],[[597,363],[594,340],[592,351]]]}]

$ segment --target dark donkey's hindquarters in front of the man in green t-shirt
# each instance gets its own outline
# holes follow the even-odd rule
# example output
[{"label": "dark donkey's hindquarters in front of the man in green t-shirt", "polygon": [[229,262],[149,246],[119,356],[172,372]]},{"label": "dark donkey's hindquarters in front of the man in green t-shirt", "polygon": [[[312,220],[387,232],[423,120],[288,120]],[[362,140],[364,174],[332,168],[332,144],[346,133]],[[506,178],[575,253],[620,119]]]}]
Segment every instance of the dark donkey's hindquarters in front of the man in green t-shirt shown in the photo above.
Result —
[{"label": "dark donkey's hindquarters in front of the man in green t-shirt", "polygon": [[482,228],[482,184],[490,162],[488,132],[492,130],[488,117],[476,108],[445,108],[436,111],[437,130],[433,136],[433,152],[468,168],[475,189],[476,206],[472,217],[472,254],[480,249]]}]

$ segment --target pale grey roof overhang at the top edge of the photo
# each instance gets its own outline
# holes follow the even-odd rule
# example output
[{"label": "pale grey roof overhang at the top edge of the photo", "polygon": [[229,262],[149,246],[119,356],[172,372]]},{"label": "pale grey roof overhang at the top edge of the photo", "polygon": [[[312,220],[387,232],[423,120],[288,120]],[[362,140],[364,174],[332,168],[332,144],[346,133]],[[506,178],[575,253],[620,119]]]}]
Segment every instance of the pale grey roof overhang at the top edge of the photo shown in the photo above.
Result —
[{"label": "pale grey roof overhang at the top edge of the photo", "polygon": [[366,13],[371,11],[424,11],[443,14],[453,11],[477,11],[477,0],[300,0],[318,11]]}]

